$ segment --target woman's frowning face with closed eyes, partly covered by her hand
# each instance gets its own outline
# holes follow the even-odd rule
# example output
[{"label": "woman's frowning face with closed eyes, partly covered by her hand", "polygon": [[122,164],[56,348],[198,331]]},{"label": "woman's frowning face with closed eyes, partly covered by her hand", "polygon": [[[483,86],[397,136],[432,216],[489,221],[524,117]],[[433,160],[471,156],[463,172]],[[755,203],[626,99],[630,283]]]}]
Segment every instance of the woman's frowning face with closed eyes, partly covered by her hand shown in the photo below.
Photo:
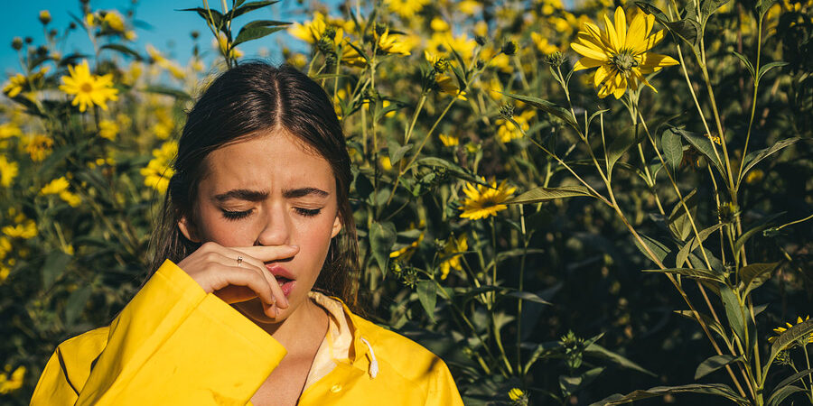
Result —
[{"label": "woman's frowning face with closed eyes, partly covered by her hand", "polygon": [[287,272],[292,280],[281,280],[287,309],[280,309],[277,318],[268,318],[258,298],[235,304],[258,322],[280,322],[307,300],[331,238],[341,230],[331,166],[282,131],[220,147],[210,152],[206,164],[193,241],[231,247],[299,246],[294,257],[272,264],[272,268],[284,268],[277,272]]}]

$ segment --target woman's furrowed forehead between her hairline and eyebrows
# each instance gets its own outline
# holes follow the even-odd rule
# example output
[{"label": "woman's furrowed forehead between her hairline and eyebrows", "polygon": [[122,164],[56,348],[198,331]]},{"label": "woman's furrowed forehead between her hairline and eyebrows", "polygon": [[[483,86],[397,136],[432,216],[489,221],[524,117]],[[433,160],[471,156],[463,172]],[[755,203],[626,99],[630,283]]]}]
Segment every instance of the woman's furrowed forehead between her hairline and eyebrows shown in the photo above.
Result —
[{"label": "woman's furrowed forehead between her hairline and eyebrows", "polygon": [[271,132],[229,143],[206,158],[202,189],[290,189],[313,187],[333,192],[330,163],[293,134]]}]

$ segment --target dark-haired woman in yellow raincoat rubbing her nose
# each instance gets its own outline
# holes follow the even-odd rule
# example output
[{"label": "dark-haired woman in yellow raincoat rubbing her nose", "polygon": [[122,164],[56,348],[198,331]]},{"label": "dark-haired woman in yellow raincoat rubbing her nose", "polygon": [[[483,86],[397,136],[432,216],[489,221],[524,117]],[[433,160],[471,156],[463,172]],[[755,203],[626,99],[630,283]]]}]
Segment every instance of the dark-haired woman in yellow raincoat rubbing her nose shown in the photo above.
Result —
[{"label": "dark-haired woman in yellow raincoat rubbing her nose", "polygon": [[462,404],[443,361],[350,311],[351,180],[313,80],[222,74],[183,128],[157,271],[110,326],[57,348],[32,404]]}]

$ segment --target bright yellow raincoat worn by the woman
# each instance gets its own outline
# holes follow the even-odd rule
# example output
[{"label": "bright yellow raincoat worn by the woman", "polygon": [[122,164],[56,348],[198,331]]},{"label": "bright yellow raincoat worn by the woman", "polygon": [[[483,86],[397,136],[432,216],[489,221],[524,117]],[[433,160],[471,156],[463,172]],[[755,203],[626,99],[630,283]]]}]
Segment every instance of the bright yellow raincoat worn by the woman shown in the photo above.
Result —
[{"label": "bright yellow raincoat worn by the woman", "polygon": [[[300,405],[462,405],[444,362],[344,307],[349,357]],[[167,260],[116,319],[57,347],[32,405],[246,405],[286,351]]]}]

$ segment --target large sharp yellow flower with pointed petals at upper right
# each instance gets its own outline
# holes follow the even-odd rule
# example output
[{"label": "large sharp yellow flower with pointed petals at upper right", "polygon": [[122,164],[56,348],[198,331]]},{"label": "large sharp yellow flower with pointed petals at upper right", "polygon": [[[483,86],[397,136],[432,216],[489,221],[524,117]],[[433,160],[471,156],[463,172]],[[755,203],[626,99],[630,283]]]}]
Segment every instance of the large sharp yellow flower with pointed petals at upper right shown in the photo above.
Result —
[{"label": "large sharp yellow flower with pointed petals at upper right", "polygon": [[[615,23],[604,15],[604,31],[594,23],[584,23],[576,42],[570,44],[584,58],[576,62],[574,70],[598,68],[593,76],[593,86],[599,97],[609,95],[621,98],[627,88],[637,90],[643,83],[652,90],[645,74],[663,67],[677,65],[677,60],[666,55],[648,52],[663,40],[663,30],[652,32],[655,16],[638,12],[632,16],[630,26],[621,7],[615,9]],[[657,91],[657,90],[656,90]]]}]

